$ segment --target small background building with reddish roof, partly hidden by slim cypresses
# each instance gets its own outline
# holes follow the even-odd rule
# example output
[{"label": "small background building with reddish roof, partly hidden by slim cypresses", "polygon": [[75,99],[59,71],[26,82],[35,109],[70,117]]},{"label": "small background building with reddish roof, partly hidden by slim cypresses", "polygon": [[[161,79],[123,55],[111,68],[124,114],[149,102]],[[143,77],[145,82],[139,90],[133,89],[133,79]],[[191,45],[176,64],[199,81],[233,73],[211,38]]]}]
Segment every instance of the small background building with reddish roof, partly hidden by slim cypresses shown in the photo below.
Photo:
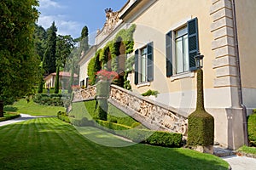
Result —
[{"label": "small background building with reddish roof, partly hidden by slim cypresses", "polygon": [[[67,89],[68,84],[70,81],[71,73],[70,72],[65,72],[65,71],[60,71],[59,74],[59,81],[60,81],[60,88]],[[44,78],[45,85],[44,88],[55,88],[55,78],[56,78],[56,73],[51,73],[47,77]],[[74,80],[74,85],[77,85],[79,81],[79,76],[77,74],[73,75],[73,80]]]}]

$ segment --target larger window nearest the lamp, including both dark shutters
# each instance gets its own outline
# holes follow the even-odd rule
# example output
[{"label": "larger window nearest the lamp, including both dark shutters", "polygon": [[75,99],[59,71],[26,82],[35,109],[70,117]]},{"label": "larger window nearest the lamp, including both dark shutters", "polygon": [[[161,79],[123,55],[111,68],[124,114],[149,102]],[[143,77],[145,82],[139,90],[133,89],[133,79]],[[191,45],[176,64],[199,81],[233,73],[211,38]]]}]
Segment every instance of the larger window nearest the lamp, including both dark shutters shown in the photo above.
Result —
[{"label": "larger window nearest the lamp, including both dark shutters", "polygon": [[195,55],[199,52],[197,18],[186,26],[166,34],[166,77],[195,71]]}]

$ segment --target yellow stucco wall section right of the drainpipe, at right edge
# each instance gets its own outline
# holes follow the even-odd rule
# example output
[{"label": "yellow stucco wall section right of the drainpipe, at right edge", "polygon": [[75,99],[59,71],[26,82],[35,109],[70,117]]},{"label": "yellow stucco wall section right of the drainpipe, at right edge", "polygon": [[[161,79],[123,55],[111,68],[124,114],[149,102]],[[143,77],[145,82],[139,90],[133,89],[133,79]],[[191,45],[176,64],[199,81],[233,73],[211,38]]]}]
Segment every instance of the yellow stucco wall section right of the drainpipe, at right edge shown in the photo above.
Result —
[{"label": "yellow stucco wall section right of the drainpipe, at right edge", "polygon": [[256,1],[236,1],[238,43],[243,88],[256,88]]}]

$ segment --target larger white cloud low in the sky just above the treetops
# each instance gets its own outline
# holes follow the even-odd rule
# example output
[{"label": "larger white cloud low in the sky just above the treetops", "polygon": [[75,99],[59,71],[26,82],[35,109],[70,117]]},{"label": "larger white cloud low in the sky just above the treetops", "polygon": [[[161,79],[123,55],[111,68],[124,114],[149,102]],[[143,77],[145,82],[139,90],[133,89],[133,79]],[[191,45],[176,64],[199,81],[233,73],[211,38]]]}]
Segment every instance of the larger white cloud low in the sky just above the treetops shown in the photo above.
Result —
[{"label": "larger white cloud low in the sky just above the treetops", "polygon": [[65,15],[40,15],[38,25],[47,29],[53,21],[55,21],[55,26],[57,26],[58,34],[71,35],[73,38],[80,36],[81,24],[73,20],[68,20]]}]

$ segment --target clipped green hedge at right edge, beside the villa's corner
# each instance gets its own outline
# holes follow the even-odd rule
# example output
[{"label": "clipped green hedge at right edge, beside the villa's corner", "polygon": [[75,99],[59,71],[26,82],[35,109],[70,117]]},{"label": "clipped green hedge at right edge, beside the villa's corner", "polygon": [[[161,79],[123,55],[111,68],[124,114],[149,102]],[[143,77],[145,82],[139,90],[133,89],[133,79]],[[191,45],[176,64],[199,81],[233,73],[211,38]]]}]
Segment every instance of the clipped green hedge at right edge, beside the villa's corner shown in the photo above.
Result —
[{"label": "clipped green hedge at right edge, beside the villa's corner", "polygon": [[253,114],[248,116],[247,131],[249,144],[251,146],[256,146],[256,110],[253,110]]}]

